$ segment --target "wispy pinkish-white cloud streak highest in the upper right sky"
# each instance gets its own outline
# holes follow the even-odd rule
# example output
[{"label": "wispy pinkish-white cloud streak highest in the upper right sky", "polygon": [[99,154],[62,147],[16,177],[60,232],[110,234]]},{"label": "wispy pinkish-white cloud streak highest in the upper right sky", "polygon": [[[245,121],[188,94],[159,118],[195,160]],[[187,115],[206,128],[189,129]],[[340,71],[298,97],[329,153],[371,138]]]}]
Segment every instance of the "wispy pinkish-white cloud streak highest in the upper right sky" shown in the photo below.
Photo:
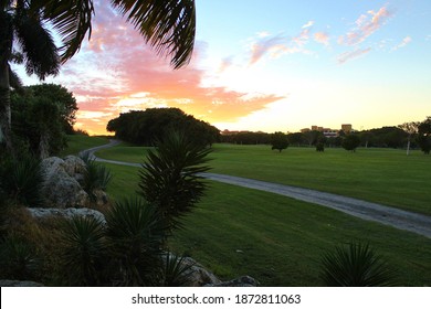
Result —
[{"label": "wispy pinkish-white cloud streak highest in the upper right sky", "polygon": [[368,36],[380,29],[392,13],[385,7],[377,12],[370,10],[367,14],[361,14],[355,22],[356,28],[347,34],[339,36],[338,43],[341,45],[356,45],[364,42]]}]

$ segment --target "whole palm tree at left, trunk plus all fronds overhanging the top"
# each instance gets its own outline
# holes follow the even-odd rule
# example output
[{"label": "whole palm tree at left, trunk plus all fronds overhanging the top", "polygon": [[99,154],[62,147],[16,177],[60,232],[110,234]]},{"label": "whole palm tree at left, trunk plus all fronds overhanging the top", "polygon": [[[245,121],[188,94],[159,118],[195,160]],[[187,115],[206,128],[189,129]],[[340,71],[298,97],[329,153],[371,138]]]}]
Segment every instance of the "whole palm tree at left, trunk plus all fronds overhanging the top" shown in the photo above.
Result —
[{"label": "whole palm tree at left, trunk plus all fronds overhanging the top", "polygon": [[[119,11],[161,55],[171,58],[175,68],[190,61],[195,44],[195,0],[112,0]],[[94,6],[92,0],[0,0],[0,141],[13,151],[10,132],[9,63],[13,42],[22,46],[29,74],[40,78],[56,74],[60,64],[70,60],[91,36]],[[50,22],[60,34],[56,47]],[[3,137],[1,137],[3,136]]]}]

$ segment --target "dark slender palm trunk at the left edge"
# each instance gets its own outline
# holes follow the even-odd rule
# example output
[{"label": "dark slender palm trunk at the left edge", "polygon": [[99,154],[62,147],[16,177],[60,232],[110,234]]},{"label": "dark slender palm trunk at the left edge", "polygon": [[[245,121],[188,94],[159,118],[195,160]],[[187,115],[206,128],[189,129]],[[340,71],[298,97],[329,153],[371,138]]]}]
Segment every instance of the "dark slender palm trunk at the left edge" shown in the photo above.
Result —
[{"label": "dark slender palm trunk at the left edge", "polygon": [[11,130],[9,64],[0,64],[0,142],[4,142],[8,152],[14,154]]}]

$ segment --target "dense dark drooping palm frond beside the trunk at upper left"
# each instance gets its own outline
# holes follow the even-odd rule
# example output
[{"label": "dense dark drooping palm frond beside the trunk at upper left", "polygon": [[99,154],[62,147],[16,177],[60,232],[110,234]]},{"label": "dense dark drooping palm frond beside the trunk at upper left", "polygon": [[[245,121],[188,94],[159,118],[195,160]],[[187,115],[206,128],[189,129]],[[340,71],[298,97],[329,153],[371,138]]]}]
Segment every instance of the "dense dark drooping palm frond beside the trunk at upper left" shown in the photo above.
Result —
[{"label": "dense dark drooping palm frond beside the trunk at upper left", "polygon": [[15,15],[15,32],[27,60],[27,73],[35,74],[41,79],[46,75],[56,75],[60,71],[57,47],[42,21],[28,9],[21,9]]}]

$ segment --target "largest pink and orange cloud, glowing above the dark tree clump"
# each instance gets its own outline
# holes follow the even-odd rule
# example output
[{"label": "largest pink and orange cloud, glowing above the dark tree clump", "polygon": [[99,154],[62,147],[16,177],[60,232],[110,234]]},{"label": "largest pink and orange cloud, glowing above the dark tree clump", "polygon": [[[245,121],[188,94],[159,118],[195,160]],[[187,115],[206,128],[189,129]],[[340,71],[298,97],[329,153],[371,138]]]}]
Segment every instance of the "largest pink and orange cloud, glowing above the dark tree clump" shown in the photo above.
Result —
[{"label": "largest pink and orange cloud, glowing above the dark tree clump", "polygon": [[[197,42],[190,64],[174,71],[169,60],[145,45],[132,25],[98,6],[92,40],[63,66],[55,82],[74,93],[77,125],[91,134],[105,132],[109,119],[130,109],[179,107],[206,121],[233,121],[283,98],[202,86],[207,73],[199,68],[199,60],[204,50],[206,44]],[[231,63],[225,58],[222,66]]]}]

